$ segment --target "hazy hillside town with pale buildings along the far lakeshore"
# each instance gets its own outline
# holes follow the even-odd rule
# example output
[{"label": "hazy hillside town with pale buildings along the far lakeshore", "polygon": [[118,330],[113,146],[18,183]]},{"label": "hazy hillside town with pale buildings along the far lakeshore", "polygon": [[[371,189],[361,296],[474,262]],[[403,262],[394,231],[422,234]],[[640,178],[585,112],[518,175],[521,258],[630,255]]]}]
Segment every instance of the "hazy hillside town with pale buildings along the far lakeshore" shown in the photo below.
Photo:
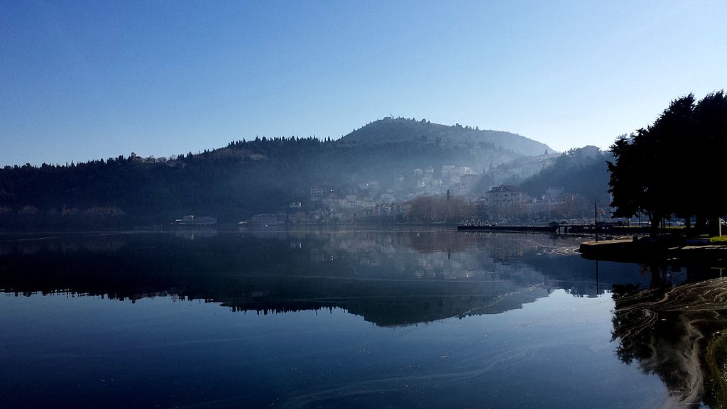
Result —
[{"label": "hazy hillside town with pale buildings along the far lakeshore", "polygon": [[[542,166],[544,158],[534,158],[531,167]],[[526,174],[538,170],[515,169]],[[253,215],[241,223],[593,223],[594,203],[584,195],[553,186],[533,196],[505,183],[514,176],[517,175],[507,170],[484,174],[472,167],[443,165],[439,169],[416,168],[406,175],[393,175],[387,183],[369,180],[346,191],[321,184],[310,186],[308,196],[290,202],[284,211]],[[599,218],[609,218],[609,212],[608,203],[598,204]]]}]

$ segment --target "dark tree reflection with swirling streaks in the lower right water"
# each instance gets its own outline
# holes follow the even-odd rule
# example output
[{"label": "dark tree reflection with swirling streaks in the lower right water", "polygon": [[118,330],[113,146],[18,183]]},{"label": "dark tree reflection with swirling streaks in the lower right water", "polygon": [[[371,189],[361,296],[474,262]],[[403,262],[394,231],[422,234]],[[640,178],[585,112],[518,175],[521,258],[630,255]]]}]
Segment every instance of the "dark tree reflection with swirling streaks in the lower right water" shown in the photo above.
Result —
[{"label": "dark tree reflection with swirling streaks in the lower right water", "polygon": [[[667,271],[651,272],[654,284],[664,284]],[[643,291],[614,287],[614,300],[620,360],[662,378],[675,407],[727,405],[727,278]]]}]

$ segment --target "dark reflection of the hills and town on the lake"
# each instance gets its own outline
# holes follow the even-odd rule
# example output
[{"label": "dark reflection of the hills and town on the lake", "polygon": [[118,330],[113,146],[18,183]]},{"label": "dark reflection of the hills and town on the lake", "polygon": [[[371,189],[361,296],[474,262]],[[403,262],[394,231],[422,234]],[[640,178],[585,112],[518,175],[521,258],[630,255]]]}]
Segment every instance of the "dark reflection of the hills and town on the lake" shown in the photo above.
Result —
[{"label": "dark reflection of the hills and town on the lake", "polygon": [[170,294],[261,314],[340,307],[406,325],[518,309],[556,288],[597,295],[591,262],[563,255],[575,245],[438,229],[6,238],[0,289],[131,301]]}]

